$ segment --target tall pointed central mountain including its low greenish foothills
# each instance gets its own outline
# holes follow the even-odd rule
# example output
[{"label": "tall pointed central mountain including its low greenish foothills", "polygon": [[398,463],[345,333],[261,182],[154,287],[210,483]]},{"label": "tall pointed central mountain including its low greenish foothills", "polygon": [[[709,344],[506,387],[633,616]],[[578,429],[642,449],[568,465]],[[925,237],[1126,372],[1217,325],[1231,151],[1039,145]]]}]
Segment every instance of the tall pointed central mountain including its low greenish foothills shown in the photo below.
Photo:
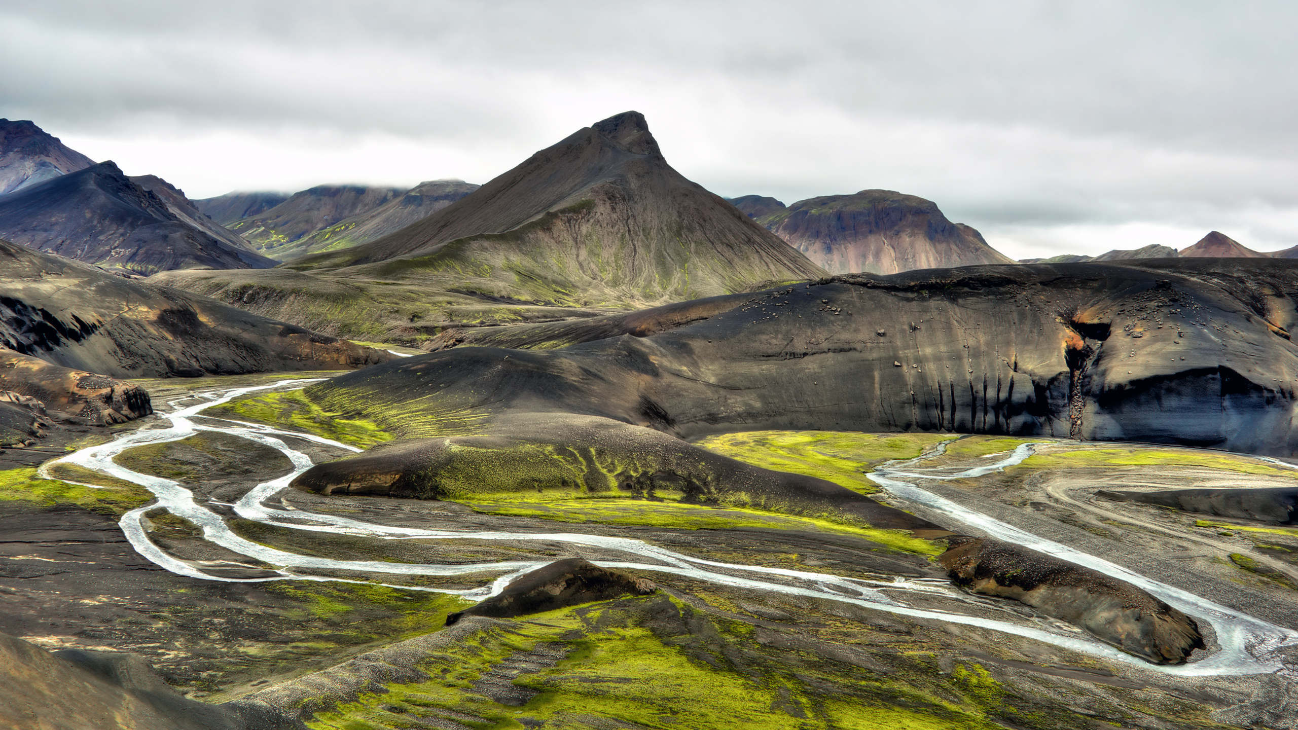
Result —
[{"label": "tall pointed central mountain including its low greenish foothills", "polygon": [[644,117],[627,112],[370,243],[273,271],[157,282],[331,334],[424,342],[447,326],[589,317],[823,275],[671,169]]}]

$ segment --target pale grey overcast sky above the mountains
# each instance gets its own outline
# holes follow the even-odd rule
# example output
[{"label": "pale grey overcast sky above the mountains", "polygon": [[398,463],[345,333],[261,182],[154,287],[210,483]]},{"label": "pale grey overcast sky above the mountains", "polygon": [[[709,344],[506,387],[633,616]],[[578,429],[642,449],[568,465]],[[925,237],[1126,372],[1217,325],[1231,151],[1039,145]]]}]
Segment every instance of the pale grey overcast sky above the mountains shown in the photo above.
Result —
[{"label": "pale grey overcast sky above the mountains", "polygon": [[709,190],[1012,257],[1298,244],[1295,3],[21,3],[0,117],[191,197],[485,182],[627,109]]}]

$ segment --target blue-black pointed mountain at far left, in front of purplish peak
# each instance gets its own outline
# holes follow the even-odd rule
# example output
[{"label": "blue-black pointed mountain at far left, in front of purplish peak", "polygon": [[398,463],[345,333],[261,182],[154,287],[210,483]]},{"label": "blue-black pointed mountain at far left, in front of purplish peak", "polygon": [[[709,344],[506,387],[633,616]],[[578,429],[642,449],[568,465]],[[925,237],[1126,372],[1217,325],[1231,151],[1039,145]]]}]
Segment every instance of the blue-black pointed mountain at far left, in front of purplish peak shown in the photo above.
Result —
[{"label": "blue-black pointed mountain at far left, in front of purplish peak", "polygon": [[166,199],[122,174],[112,161],[25,187],[0,197],[0,238],[123,271],[263,269],[275,261],[241,239],[215,230],[183,194],[141,178]]}]

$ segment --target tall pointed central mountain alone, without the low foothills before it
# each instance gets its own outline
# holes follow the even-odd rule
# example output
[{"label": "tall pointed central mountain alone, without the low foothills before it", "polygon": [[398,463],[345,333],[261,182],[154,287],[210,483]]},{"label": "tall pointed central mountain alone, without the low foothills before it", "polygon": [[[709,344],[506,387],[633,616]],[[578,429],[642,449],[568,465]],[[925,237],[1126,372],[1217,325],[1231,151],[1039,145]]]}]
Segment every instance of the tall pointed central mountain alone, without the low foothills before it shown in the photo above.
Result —
[{"label": "tall pointed central mountain alone, without the low foothills before it", "polygon": [[[489,266],[493,273],[470,286],[497,296],[554,303],[589,296],[604,304],[689,299],[820,275],[778,243],[674,170],[644,116],[626,112],[537,152],[419,223],[293,268],[395,258],[401,264],[353,270]],[[531,291],[518,292],[520,281]]]}]

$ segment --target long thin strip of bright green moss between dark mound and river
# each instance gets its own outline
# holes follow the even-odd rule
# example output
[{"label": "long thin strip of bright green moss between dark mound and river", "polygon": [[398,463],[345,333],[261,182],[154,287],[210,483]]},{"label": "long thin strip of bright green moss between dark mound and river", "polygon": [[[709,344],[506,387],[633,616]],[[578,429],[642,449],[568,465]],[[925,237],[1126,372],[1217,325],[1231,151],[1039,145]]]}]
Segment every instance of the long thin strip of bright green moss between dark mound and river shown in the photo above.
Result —
[{"label": "long thin strip of bright green moss between dark mound and river", "polygon": [[559,495],[546,500],[536,495],[517,495],[509,500],[456,500],[485,514],[535,517],[557,522],[594,522],[636,527],[683,530],[736,530],[745,527],[800,530],[810,533],[836,533],[863,538],[887,549],[936,556],[945,548],[929,540],[910,536],[905,530],[876,530],[844,525],[829,520],[759,509],[720,508],[679,501],[648,501],[640,499],[594,497],[582,499]]}]

